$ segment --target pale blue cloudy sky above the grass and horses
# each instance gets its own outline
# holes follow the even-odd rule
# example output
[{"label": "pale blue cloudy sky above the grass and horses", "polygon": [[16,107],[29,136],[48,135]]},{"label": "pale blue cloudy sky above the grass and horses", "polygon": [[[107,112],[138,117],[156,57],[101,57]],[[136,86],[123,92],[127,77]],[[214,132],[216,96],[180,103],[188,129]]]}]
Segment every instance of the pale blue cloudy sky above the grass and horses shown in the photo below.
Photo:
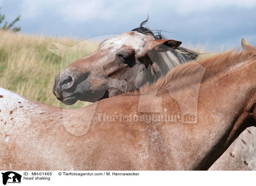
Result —
[{"label": "pale blue cloudy sky above the grass and horses", "polygon": [[120,34],[149,15],[150,29],[209,50],[256,45],[256,0],[0,0],[1,13],[28,34],[79,39]]}]

